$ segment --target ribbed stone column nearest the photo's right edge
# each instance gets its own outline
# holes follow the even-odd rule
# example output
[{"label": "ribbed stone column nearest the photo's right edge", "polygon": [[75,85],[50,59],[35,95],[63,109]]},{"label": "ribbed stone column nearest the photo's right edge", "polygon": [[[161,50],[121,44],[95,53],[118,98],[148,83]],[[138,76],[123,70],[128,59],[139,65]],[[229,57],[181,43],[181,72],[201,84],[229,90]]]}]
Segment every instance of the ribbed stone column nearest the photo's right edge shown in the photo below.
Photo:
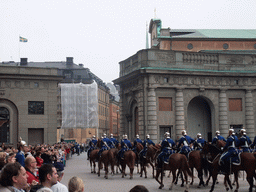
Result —
[{"label": "ribbed stone column nearest the photo's right edge", "polygon": [[246,90],[245,93],[245,129],[248,137],[254,137],[254,111],[252,91]]}]

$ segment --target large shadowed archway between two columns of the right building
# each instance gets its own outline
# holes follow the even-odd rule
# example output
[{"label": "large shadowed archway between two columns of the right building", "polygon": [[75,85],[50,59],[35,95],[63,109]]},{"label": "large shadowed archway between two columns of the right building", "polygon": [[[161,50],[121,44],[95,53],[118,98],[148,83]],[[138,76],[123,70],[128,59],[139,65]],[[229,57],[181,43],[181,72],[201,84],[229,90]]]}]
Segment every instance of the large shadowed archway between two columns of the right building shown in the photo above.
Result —
[{"label": "large shadowed archway between two columns of the right building", "polygon": [[212,110],[209,102],[204,97],[195,97],[188,104],[188,126],[190,137],[195,138],[201,133],[206,141],[212,138]]}]

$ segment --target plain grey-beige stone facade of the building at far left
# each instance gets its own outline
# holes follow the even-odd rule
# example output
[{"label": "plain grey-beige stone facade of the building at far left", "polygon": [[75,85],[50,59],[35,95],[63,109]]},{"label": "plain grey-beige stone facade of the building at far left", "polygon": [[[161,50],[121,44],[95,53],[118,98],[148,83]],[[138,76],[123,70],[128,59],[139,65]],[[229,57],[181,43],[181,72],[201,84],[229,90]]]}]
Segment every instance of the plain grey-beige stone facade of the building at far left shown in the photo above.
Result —
[{"label": "plain grey-beige stone facade of the building at far left", "polygon": [[56,143],[57,69],[3,64],[0,71],[0,142]]}]

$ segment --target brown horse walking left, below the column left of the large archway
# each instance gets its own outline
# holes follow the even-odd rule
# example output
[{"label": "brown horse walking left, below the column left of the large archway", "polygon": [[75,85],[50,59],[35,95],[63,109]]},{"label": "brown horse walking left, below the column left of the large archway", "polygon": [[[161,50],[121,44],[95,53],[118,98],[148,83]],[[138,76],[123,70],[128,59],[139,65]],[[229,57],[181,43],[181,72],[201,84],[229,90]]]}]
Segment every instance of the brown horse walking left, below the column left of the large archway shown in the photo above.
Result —
[{"label": "brown horse walking left, below the column left of the large archway", "polygon": [[[157,166],[157,165],[156,165]],[[186,189],[185,192],[188,191],[188,175],[192,177],[192,172],[189,169],[187,157],[180,153],[173,153],[169,158],[169,164],[164,164],[162,168],[156,168],[156,181],[160,184],[159,189],[164,187],[163,184],[163,173],[164,170],[170,170],[172,172],[172,183],[169,190],[172,190],[173,184],[176,180],[176,171],[180,170],[185,176]],[[161,174],[161,181],[158,180],[159,175]]]}]

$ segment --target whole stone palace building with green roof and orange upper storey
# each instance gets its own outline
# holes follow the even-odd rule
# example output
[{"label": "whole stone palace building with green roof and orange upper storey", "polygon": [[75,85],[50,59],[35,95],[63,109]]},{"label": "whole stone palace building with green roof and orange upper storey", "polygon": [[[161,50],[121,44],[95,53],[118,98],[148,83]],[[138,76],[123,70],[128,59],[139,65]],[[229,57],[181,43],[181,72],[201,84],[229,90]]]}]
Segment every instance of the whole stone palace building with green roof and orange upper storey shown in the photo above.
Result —
[{"label": "whole stone palace building with green roof and orange upper storey", "polygon": [[120,131],[129,139],[182,130],[211,141],[215,131],[255,136],[256,30],[149,26],[151,47],[121,61]]}]

